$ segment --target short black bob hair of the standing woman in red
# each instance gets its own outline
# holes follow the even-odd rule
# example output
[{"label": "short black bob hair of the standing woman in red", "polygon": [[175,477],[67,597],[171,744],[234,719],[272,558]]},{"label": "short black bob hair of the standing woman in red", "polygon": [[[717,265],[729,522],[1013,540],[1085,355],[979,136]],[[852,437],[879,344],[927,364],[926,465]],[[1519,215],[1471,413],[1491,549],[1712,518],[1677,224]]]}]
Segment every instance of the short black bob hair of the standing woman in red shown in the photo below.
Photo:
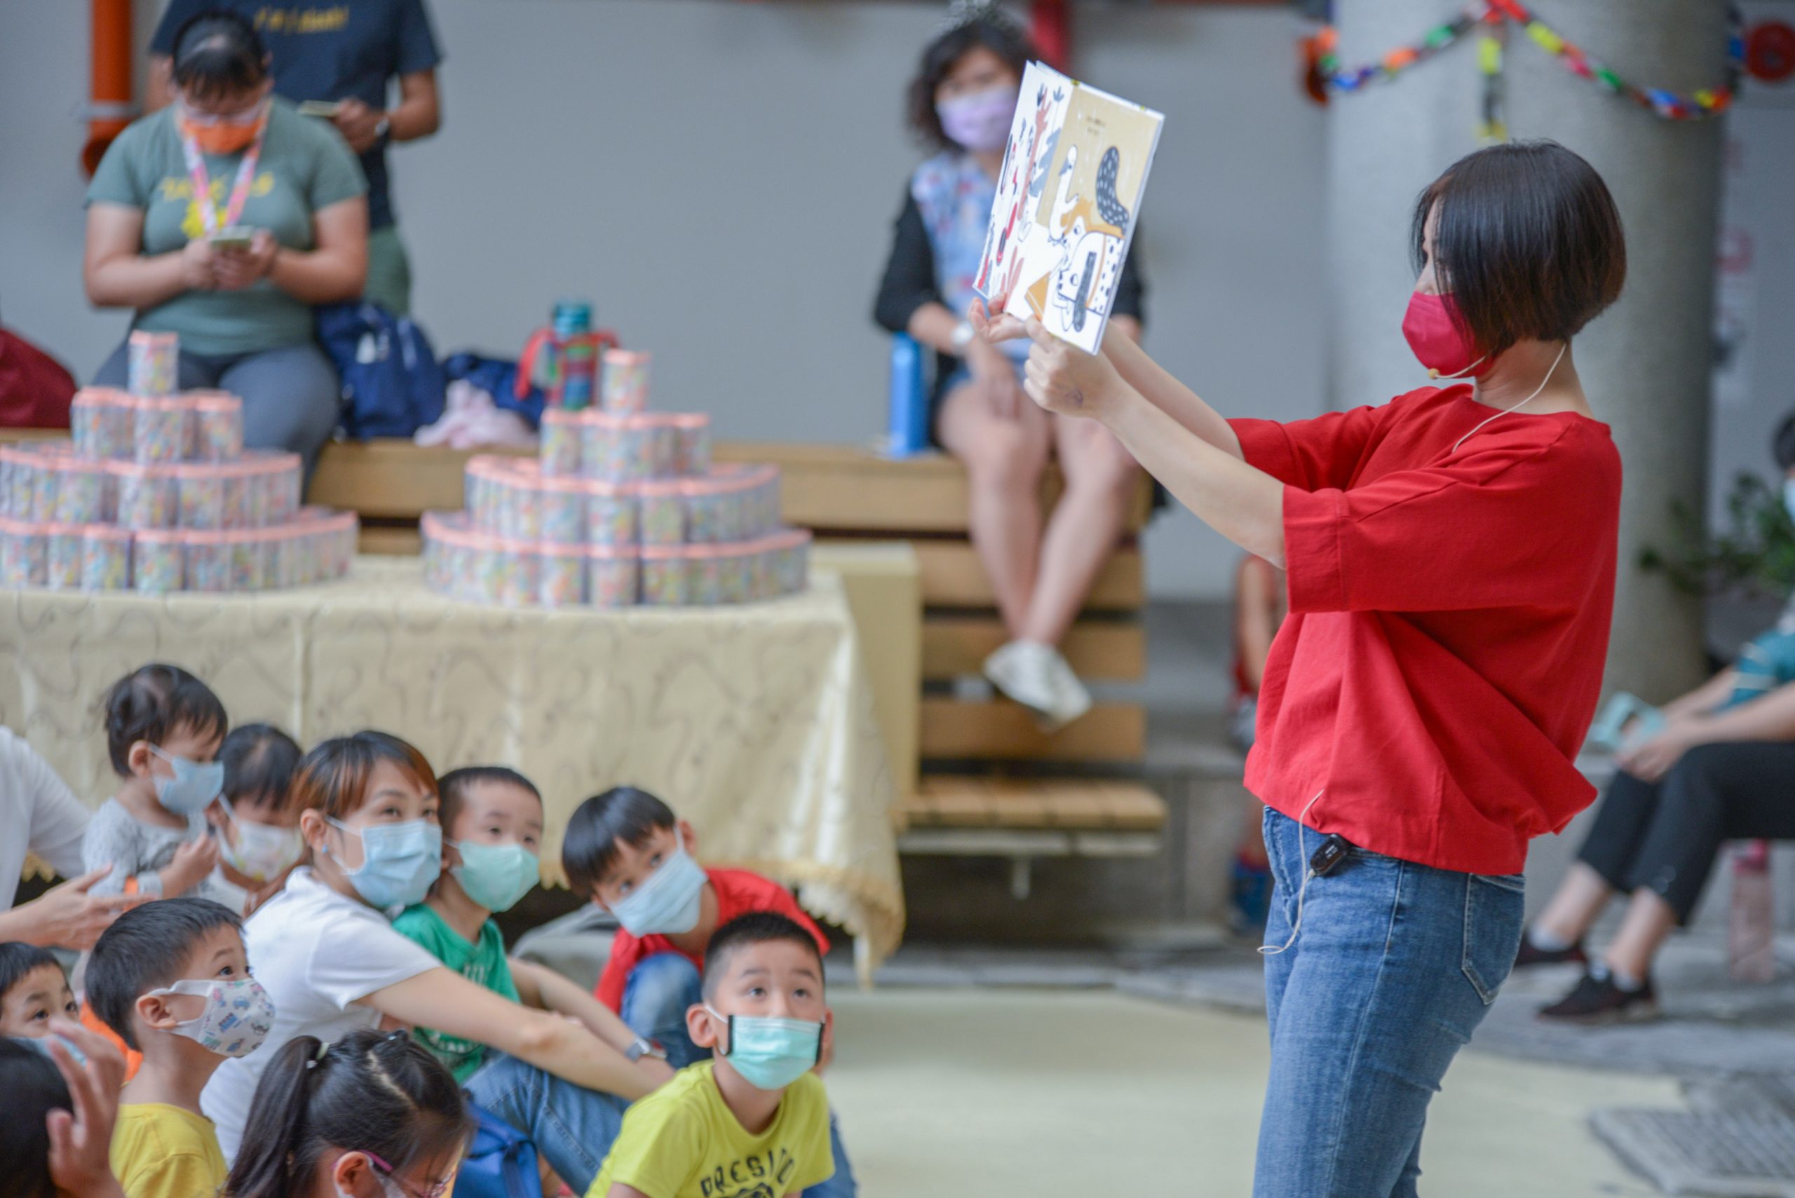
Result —
[{"label": "short black bob hair of the standing woman in red", "polygon": [[1414,269],[1450,292],[1477,353],[1569,341],[1621,294],[1626,237],[1596,169],[1556,142],[1490,145],[1459,158],[1414,203]]}]

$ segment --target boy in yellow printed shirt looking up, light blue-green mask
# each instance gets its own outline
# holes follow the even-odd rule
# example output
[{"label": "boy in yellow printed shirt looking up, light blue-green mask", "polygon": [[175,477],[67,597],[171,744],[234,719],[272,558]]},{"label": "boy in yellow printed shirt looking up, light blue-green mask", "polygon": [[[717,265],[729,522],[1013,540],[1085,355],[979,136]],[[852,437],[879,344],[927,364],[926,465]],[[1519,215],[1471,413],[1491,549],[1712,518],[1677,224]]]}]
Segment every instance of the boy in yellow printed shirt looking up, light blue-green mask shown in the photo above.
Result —
[{"label": "boy in yellow printed shirt looking up, light blue-green mask", "polygon": [[630,1107],[587,1198],[786,1198],[835,1173],[831,1051],[817,942],[754,911],[723,924],[704,956],[704,1003],[686,1028],[711,1060]]}]

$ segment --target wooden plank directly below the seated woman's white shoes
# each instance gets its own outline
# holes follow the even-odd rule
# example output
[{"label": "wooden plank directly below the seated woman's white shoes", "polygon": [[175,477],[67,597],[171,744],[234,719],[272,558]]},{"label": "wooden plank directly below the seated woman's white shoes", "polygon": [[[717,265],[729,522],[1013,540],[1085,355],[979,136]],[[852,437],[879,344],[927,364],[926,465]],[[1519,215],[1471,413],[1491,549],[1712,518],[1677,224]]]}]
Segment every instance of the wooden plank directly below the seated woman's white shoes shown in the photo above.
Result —
[{"label": "wooden plank directly below the seated woman's white shoes", "polygon": [[1046,735],[1016,703],[924,698],[923,760],[1131,762],[1147,755],[1147,708],[1099,703],[1082,719]]}]

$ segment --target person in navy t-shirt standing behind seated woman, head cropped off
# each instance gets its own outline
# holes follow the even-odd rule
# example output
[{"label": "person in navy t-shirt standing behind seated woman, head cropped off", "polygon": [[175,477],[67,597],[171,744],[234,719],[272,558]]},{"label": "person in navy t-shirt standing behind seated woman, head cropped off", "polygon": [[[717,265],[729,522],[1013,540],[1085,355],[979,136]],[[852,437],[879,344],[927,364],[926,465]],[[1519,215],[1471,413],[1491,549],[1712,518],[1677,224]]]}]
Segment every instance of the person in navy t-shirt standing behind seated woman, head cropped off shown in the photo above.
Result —
[{"label": "person in navy t-shirt standing behind seated woman, head cropped off", "polygon": [[[442,108],[436,65],[442,52],[424,0],[169,0],[149,41],[149,108],[174,99],[174,30],[212,9],[237,13],[262,36],[273,59],[275,91],[303,104],[339,104],[332,124],[361,156],[368,176],[366,298],[404,316],[411,308],[411,264],[393,215],[386,145],[436,133]],[[398,79],[398,104],[388,106]]]}]

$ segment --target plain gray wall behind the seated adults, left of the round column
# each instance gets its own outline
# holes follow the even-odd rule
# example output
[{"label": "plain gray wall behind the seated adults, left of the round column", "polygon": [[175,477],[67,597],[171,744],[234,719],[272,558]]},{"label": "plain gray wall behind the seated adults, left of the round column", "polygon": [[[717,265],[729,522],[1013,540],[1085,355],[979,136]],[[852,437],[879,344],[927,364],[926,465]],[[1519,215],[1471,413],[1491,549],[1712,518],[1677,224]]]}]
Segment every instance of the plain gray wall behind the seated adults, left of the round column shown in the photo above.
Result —
[{"label": "plain gray wall behind the seated adults, left of the round column", "polygon": [[[732,438],[883,429],[869,310],[917,158],[914,0],[429,0],[445,126],[393,152],[438,350],[515,353],[562,294],[655,352],[659,400]],[[126,317],[81,294],[77,0],[0,0],[0,316],[88,375]],[[160,0],[138,2],[147,38]],[[1280,7],[1104,9],[1079,72],[1169,115],[1140,251],[1151,344],[1231,412],[1321,411],[1323,115]],[[1156,595],[1226,594],[1192,517],[1149,536]]]}]

